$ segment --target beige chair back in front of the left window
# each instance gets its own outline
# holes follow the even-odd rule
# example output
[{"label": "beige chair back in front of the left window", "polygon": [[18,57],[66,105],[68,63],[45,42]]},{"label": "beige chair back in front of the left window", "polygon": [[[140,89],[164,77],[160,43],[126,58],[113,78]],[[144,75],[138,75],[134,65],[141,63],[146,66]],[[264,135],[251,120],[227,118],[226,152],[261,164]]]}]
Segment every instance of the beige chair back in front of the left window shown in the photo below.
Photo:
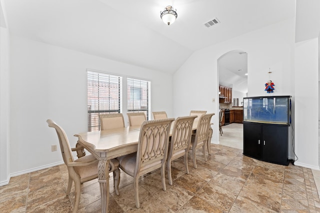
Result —
[{"label": "beige chair back in front of the left window", "polygon": [[122,113],[100,114],[100,129],[111,129],[125,127]]}]

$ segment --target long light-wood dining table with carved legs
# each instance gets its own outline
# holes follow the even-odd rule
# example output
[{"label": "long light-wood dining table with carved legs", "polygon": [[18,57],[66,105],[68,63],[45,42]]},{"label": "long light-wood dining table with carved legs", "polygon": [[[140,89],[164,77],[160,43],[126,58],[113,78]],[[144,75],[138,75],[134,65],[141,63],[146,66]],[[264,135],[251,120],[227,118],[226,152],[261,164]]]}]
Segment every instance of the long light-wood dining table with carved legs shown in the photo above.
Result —
[{"label": "long light-wood dining table with carved legs", "polygon": [[[170,134],[173,125],[172,123]],[[195,131],[196,127],[197,122],[193,122],[192,130]],[[110,159],[137,151],[139,133],[140,126],[127,126],[74,134],[78,137],[78,143],[99,160],[98,182],[101,194],[101,212],[108,212],[110,178],[108,167]],[[209,154],[211,154],[211,137],[212,128],[210,127],[207,142]]]}]

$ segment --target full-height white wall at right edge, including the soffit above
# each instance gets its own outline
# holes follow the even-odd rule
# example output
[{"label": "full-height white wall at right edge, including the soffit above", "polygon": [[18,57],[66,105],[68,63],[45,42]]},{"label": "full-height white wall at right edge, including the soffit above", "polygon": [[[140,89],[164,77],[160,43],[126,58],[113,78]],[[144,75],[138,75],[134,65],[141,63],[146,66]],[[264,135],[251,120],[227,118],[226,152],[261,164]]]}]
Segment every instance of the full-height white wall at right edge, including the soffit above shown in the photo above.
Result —
[{"label": "full-height white wall at right edge, including the soffit above", "polygon": [[[320,1],[296,0],[294,49],[296,165],[319,169],[319,35]],[[307,23],[307,24],[305,24]],[[298,42],[299,41],[299,42]],[[303,85],[307,86],[303,86]],[[301,86],[302,85],[302,86]],[[314,167],[313,167],[314,166]]]}]

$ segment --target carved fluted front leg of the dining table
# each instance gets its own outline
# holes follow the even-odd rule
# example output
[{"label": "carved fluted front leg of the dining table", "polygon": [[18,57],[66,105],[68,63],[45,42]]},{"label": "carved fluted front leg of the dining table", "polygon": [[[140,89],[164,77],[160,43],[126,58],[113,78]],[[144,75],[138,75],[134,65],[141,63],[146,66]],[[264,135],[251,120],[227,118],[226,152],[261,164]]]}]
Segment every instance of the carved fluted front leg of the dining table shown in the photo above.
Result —
[{"label": "carved fluted front leg of the dining table", "polygon": [[108,212],[109,204],[109,160],[100,159],[98,163],[98,182],[101,194],[101,212]]}]

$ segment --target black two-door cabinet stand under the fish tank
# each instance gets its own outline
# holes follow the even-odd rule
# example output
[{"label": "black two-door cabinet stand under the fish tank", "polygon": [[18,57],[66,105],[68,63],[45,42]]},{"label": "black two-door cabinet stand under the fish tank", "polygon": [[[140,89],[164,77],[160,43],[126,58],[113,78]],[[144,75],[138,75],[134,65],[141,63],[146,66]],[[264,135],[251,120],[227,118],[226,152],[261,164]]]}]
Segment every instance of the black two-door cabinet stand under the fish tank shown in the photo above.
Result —
[{"label": "black two-door cabinet stand under the fish tank", "polygon": [[243,122],[243,154],[288,165],[288,125]]}]

